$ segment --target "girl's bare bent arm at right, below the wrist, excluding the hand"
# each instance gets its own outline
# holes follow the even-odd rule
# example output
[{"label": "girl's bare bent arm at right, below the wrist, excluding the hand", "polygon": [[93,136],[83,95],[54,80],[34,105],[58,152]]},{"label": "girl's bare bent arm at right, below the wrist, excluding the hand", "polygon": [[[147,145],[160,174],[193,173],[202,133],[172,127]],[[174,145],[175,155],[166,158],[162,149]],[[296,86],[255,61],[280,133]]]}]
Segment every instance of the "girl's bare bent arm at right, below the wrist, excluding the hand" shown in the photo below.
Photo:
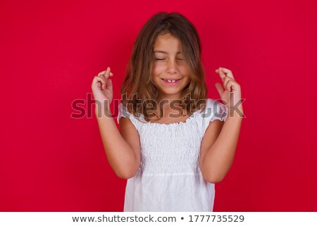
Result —
[{"label": "girl's bare bent arm at right, below the wrist, excluding the hand", "polygon": [[[239,109],[243,113],[242,105]],[[229,110],[229,115],[230,111],[233,110]],[[211,183],[223,180],[235,157],[242,117],[237,111],[229,115],[225,123],[214,120],[209,124],[201,144],[201,173]]]}]

